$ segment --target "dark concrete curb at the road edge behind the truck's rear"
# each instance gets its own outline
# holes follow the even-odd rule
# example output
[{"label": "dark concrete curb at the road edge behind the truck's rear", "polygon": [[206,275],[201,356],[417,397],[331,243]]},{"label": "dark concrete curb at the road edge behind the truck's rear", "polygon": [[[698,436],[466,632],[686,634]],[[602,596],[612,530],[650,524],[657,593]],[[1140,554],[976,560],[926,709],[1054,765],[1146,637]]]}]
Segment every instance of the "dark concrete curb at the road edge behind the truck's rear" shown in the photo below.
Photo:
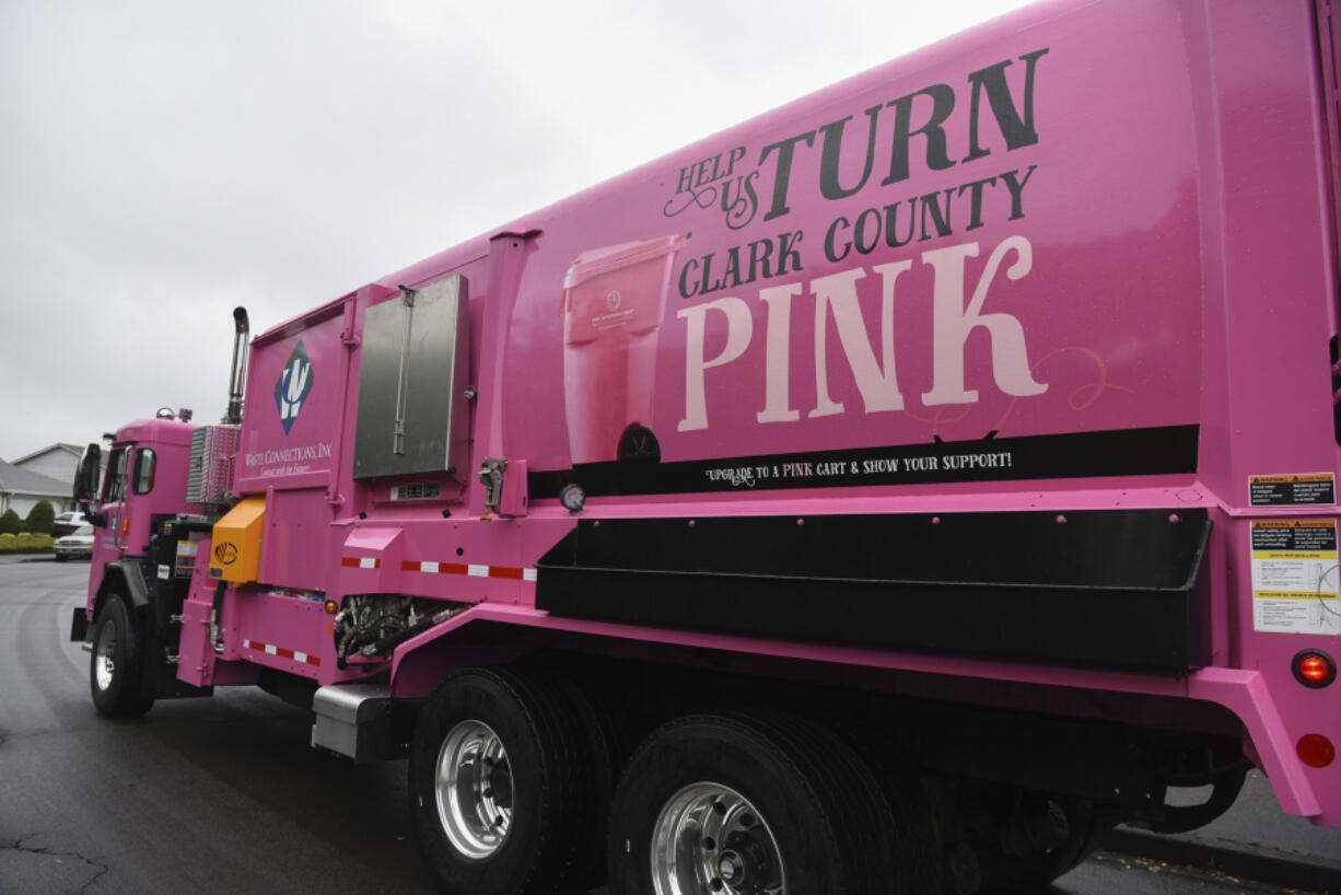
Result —
[{"label": "dark concrete curb at the road edge behind the truck's rear", "polygon": [[1301,888],[1317,895],[1341,892],[1341,868],[1311,861],[1301,855],[1286,856],[1248,845],[1211,845],[1193,839],[1125,828],[1108,831],[1098,837],[1097,845],[1118,855],[1187,864],[1282,888]]}]

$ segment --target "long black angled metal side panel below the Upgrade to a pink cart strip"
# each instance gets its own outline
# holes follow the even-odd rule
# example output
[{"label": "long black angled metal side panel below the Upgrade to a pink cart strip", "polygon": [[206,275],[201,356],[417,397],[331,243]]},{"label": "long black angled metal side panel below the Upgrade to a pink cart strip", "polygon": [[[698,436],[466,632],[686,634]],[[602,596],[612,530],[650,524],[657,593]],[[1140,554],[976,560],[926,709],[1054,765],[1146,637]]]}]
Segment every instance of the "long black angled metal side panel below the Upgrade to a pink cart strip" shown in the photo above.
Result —
[{"label": "long black angled metal side panel below the Upgrade to a pink cart strip", "polygon": [[1204,664],[1202,509],[582,519],[558,616],[1180,675]]}]

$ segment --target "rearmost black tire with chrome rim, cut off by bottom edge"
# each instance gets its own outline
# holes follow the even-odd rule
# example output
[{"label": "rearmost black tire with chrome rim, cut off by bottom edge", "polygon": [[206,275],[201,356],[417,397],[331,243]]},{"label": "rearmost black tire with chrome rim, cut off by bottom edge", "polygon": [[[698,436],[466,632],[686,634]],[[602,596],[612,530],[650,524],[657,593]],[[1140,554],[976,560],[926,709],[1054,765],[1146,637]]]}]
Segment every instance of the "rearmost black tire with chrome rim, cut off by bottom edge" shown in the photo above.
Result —
[{"label": "rearmost black tire with chrome rim, cut off by bottom edge", "polygon": [[695,715],[654,731],[616,789],[610,892],[754,895],[780,883],[888,895],[904,891],[893,836],[873,774],[827,730],[791,717]]}]

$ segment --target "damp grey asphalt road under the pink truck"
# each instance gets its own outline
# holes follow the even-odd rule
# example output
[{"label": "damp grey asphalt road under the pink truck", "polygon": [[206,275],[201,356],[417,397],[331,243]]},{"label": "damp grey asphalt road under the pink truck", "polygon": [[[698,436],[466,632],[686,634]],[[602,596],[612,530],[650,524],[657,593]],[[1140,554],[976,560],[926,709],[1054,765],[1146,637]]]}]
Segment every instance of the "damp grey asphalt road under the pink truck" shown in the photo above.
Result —
[{"label": "damp grey asphalt road under the pink truck", "polygon": [[[432,891],[404,762],[312,750],[307,713],[251,687],[98,718],[67,640],[87,572],[0,564],[0,894]],[[1047,891],[1281,890],[1100,853]]]}]

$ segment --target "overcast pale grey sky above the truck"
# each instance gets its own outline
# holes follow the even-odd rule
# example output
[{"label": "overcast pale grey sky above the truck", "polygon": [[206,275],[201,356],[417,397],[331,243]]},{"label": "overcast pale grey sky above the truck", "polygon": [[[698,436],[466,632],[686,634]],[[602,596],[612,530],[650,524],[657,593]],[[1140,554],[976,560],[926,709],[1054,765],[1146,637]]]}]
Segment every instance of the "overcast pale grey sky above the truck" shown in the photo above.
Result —
[{"label": "overcast pale grey sky above the truck", "polygon": [[224,411],[253,331],[1023,0],[0,0],[0,458]]}]

